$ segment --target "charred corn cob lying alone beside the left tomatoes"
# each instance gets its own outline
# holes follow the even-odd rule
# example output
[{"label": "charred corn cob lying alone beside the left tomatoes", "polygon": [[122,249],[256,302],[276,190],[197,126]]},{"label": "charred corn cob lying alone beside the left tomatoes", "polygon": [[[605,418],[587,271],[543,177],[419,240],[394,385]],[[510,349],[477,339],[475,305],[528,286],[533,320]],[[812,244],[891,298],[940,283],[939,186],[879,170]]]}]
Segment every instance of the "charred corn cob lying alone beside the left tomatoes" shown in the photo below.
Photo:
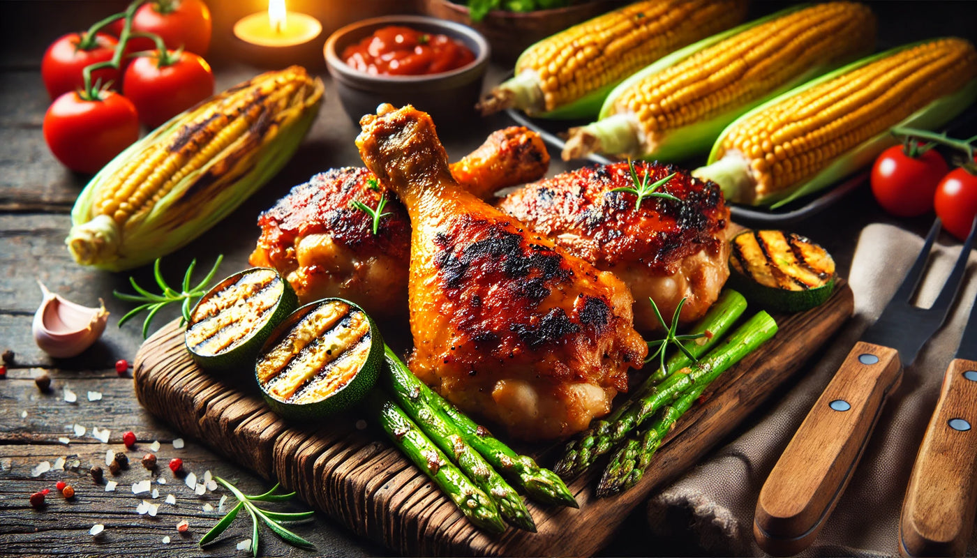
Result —
[{"label": "charred corn cob lying alone beside the left tomatoes", "polygon": [[300,66],[263,73],[174,116],[112,159],[78,196],[65,239],[109,271],[190,242],[264,185],[298,148],[323,86]]}]

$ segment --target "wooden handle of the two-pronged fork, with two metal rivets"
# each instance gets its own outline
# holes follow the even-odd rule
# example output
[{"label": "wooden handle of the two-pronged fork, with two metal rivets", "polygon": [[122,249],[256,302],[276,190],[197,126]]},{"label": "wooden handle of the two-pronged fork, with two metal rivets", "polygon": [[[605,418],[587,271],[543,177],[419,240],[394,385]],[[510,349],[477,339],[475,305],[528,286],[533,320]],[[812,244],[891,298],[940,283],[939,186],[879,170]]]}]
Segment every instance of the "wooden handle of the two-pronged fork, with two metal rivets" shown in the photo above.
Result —
[{"label": "wooden handle of the two-pronged fork, with two metal rivets", "polygon": [[760,491],[753,536],[761,548],[796,554],[818,536],[901,380],[895,349],[859,341],[848,353]]}]

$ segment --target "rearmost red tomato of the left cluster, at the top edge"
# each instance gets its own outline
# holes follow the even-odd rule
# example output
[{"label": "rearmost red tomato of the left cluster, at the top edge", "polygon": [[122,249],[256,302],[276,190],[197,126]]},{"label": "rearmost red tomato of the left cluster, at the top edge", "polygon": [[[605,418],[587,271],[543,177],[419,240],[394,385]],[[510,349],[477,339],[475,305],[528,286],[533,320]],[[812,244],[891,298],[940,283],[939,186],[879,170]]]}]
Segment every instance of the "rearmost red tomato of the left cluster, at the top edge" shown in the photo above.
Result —
[{"label": "rearmost red tomato of the left cluster, at the top edge", "polygon": [[[122,24],[122,20],[113,21],[110,29],[119,35]],[[210,10],[201,0],[156,0],[136,10],[132,30],[159,35],[166,48],[184,47],[203,56],[210,47]],[[156,44],[146,37],[133,37],[127,47],[131,52],[151,51]]]}]

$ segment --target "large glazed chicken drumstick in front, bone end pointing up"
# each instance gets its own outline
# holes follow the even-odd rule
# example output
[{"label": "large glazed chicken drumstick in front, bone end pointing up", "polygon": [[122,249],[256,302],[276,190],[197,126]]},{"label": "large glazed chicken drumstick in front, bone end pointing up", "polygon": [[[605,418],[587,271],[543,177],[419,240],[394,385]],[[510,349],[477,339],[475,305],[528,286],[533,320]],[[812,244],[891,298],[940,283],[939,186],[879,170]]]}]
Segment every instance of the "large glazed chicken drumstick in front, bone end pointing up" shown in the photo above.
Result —
[{"label": "large glazed chicken drumstick in front, bone end pointing up", "polygon": [[414,373],[521,439],[608,413],[648,352],[627,286],[462,190],[426,113],[386,105],[361,126],[363,162],[412,225]]}]

